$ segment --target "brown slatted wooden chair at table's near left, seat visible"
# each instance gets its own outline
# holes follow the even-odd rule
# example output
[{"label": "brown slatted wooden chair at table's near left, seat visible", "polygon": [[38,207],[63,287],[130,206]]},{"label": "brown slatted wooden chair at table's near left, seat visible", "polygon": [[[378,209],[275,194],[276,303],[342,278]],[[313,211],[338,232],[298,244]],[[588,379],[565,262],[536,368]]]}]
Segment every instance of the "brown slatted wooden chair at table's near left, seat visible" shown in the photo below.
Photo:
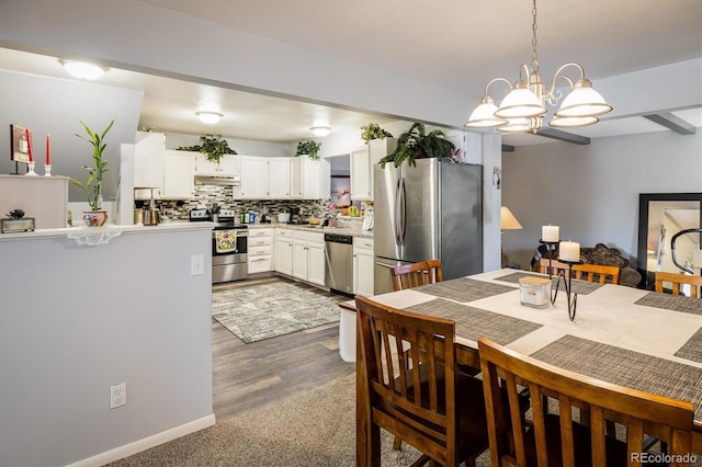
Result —
[{"label": "brown slatted wooden chair at table's near left, seat visible", "polygon": [[355,301],[364,369],[360,379],[365,380],[359,407],[367,408],[369,465],[381,465],[381,429],[422,453],[415,465],[475,465],[487,448],[483,384],[457,372],[454,321],[362,296]]}]

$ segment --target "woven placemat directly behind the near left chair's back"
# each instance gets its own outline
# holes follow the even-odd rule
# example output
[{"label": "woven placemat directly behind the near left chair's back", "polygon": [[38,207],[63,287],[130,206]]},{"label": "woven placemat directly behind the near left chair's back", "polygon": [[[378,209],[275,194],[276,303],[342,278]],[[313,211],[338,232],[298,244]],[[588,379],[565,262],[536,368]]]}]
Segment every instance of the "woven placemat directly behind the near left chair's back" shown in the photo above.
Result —
[{"label": "woven placemat directly behind the near left chair's back", "polygon": [[479,338],[486,337],[500,345],[507,345],[542,327],[542,324],[536,322],[512,318],[441,298],[434,298],[433,300],[408,307],[407,310],[421,315],[452,319],[456,322],[457,337],[472,341],[477,341]]}]

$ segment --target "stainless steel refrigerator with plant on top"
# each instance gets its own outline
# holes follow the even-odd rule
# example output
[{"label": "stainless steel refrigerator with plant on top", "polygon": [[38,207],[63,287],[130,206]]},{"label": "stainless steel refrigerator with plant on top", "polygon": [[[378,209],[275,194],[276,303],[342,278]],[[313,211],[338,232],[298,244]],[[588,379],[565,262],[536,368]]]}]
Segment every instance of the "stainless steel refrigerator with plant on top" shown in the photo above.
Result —
[{"label": "stainless steel refrigerator with plant on top", "polygon": [[483,272],[483,167],[419,159],[374,167],[374,293],[389,269],[441,260],[443,280]]}]

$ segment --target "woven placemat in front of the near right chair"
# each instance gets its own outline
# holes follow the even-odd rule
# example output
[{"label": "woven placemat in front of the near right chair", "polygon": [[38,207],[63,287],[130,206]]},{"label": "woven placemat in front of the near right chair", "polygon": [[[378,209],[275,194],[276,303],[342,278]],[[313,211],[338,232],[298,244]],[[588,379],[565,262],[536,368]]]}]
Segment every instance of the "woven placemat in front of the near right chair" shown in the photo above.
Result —
[{"label": "woven placemat in front of the near right chair", "polygon": [[702,368],[643,353],[564,335],[531,356],[603,381],[689,400],[702,420]]}]

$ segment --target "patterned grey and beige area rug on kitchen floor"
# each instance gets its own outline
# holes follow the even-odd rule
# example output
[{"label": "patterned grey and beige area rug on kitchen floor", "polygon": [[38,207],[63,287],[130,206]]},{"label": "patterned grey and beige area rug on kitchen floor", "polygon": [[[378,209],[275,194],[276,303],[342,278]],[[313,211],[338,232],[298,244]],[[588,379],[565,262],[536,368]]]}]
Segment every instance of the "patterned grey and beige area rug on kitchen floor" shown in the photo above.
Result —
[{"label": "patterned grey and beige area rug on kitchen floor", "polygon": [[273,283],[212,294],[212,316],[248,343],[339,321],[339,305],[324,292]]}]

